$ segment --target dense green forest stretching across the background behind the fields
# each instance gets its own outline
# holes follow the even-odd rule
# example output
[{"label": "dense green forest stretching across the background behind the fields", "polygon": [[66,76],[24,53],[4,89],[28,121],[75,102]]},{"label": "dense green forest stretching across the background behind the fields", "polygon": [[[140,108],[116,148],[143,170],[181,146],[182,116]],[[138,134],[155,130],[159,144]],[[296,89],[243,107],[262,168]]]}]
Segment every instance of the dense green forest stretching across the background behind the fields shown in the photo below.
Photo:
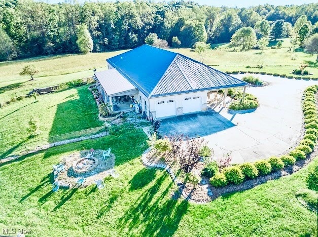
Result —
[{"label": "dense green forest stretching across the background behind the fields", "polygon": [[185,1],[48,4],[2,0],[0,60],[78,53],[81,41],[92,41],[89,51],[93,52],[130,49],[144,44],[150,33],[172,47],[230,42],[242,27],[253,28],[257,38],[292,37],[294,28],[304,23],[308,29],[301,30],[318,32],[317,22],[318,4],[219,8]]}]

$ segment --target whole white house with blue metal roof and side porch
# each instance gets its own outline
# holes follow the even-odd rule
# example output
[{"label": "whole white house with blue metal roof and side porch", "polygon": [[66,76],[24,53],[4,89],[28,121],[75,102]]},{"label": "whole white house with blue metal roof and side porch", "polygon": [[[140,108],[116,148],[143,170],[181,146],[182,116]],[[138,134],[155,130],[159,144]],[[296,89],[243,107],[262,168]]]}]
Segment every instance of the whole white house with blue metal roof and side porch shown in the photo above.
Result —
[{"label": "whole white house with blue metal roof and side porch", "polygon": [[[106,60],[95,72],[97,88],[113,110],[125,102],[154,119],[207,109],[209,92],[249,86],[179,53],[143,45]],[[225,105],[225,97],[224,103]],[[130,105],[131,107],[131,105]]]}]

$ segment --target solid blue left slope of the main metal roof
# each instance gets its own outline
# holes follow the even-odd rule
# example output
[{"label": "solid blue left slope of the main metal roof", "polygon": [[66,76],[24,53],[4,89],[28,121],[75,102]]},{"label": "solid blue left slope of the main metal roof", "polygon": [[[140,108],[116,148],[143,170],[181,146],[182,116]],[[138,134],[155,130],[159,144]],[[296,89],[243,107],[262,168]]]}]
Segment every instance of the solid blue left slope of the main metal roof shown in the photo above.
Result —
[{"label": "solid blue left slope of the main metal roof", "polygon": [[107,61],[138,90],[149,96],[176,55],[167,50],[143,45]]}]

